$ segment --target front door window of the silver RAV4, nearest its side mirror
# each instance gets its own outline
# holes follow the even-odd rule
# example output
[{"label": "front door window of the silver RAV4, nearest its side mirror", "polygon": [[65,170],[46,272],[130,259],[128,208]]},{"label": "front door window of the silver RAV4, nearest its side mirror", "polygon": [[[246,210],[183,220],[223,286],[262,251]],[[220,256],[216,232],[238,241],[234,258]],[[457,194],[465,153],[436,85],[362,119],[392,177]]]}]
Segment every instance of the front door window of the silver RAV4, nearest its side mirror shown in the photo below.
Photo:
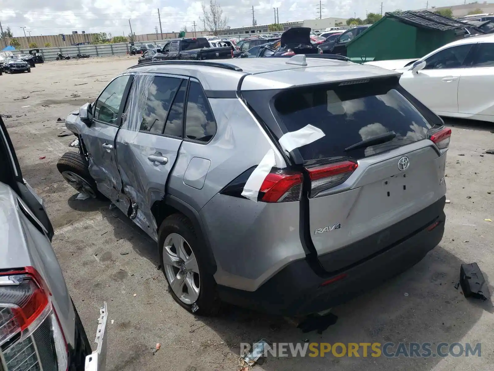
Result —
[{"label": "front door window of the silver RAV4, nearest its side mirror", "polygon": [[117,77],[100,94],[94,105],[95,120],[117,125],[120,105],[129,77],[129,75]]}]

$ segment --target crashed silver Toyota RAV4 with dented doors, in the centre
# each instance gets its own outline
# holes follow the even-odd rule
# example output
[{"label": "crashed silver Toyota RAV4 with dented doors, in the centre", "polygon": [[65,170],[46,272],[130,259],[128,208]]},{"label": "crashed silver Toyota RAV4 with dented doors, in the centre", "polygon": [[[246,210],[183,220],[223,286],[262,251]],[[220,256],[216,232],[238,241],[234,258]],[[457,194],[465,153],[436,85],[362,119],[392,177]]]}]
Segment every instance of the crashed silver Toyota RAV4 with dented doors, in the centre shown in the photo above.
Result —
[{"label": "crashed silver Toyota RAV4 with dented doors, in the centre", "polygon": [[451,130],[399,76],[337,56],[131,67],[67,117],[80,152],[57,166],[157,241],[187,310],[320,312],[443,236]]}]

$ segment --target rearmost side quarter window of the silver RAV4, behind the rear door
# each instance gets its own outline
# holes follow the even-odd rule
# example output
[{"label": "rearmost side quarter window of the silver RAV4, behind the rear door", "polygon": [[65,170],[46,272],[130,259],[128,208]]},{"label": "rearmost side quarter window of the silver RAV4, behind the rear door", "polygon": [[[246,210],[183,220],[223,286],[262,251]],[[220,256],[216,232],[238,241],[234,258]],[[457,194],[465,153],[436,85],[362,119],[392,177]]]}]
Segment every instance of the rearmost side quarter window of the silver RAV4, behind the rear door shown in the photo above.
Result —
[{"label": "rearmost side quarter window of the silver RAV4, behind the rear door", "polygon": [[216,121],[201,85],[191,81],[185,118],[185,136],[208,142],[216,133]]}]

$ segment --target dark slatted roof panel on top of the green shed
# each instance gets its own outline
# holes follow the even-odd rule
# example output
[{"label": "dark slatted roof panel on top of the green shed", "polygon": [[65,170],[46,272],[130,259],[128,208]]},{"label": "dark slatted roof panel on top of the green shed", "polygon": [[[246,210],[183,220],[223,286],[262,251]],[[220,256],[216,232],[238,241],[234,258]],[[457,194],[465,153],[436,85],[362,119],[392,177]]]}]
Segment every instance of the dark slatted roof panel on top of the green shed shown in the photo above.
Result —
[{"label": "dark slatted roof panel on top of the green shed", "polygon": [[384,15],[386,18],[394,18],[397,21],[408,24],[410,26],[426,28],[429,30],[447,31],[472,26],[467,23],[444,17],[440,14],[436,14],[428,10],[388,12]]}]

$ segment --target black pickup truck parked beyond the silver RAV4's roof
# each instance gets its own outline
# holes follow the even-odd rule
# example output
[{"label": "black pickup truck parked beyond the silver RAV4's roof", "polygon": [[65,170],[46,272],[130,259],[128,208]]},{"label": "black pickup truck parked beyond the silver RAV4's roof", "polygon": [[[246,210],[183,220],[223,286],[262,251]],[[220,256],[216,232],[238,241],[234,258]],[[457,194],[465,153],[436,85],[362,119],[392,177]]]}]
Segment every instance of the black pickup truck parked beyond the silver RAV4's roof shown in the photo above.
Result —
[{"label": "black pickup truck parked beyond the silver RAV4's roof", "polygon": [[176,39],[168,41],[163,49],[153,55],[153,62],[174,59],[229,59],[233,57],[230,46],[210,47],[206,38]]}]

